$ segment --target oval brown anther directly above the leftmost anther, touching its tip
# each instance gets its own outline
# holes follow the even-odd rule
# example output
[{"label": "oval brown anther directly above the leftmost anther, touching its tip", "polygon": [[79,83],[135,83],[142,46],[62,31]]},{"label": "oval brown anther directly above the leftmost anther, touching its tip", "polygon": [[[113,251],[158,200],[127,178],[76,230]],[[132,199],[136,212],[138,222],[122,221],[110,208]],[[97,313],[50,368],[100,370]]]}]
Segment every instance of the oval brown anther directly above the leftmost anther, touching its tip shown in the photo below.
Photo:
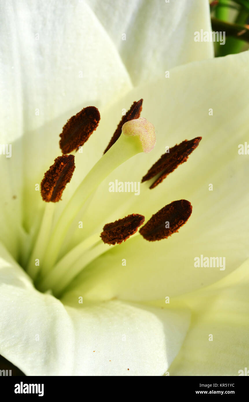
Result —
[{"label": "oval brown anther directly above the leftmost anther, touching its tip", "polygon": [[95,106],[84,107],[75,116],[72,116],[60,134],[60,149],[62,154],[69,154],[82,146],[98,127],[100,114]]}]

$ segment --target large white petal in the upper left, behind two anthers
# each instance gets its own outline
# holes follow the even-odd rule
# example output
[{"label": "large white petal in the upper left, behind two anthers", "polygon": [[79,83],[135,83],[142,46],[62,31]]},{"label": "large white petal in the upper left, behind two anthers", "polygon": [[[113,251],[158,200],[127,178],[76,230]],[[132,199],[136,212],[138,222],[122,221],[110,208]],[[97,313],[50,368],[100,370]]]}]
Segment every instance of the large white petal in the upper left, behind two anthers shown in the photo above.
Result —
[{"label": "large white petal in the upper left, behind two anthers", "polygon": [[[0,16],[0,144],[12,144],[16,174],[13,182],[13,174],[4,170],[1,188],[7,189],[0,207],[5,213],[6,202],[19,202],[23,173],[23,220],[29,230],[43,207],[35,185],[61,154],[59,134],[67,119],[83,107],[113,102],[132,86],[115,46],[85,2],[2,2]],[[18,196],[14,202],[12,195]]]}]

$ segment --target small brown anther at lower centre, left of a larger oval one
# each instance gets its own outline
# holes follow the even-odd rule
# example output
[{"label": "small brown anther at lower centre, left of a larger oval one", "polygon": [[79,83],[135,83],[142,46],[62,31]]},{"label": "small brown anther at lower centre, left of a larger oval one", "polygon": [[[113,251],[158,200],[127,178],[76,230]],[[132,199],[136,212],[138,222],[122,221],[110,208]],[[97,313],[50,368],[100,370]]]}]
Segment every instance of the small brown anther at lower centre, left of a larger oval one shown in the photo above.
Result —
[{"label": "small brown anther at lower centre, left of a larger oval one", "polygon": [[121,244],[130,236],[137,232],[139,226],[144,223],[144,216],[139,213],[133,213],[123,219],[106,224],[100,237],[107,244]]}]

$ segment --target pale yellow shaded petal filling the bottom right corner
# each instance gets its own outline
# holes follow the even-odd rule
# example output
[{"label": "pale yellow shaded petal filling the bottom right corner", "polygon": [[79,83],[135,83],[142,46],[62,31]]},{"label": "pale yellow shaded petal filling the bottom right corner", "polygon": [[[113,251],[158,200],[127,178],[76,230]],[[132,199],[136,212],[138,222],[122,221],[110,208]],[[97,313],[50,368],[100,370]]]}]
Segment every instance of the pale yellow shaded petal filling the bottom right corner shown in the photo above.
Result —
[{"label": "pale yellow shaded petal filling the bottom right corner", "polygon": [[180,298],[193,317],[170,375],[248,375],[248,269]]}]

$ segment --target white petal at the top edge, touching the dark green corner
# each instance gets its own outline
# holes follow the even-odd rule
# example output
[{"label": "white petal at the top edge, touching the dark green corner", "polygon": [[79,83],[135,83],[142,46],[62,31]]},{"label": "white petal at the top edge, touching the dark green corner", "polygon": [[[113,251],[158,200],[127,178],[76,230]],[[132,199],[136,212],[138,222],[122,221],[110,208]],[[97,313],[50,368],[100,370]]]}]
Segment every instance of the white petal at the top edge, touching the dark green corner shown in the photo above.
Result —
[{"label": "white petal at the top edge, touching the dark green corner", "polygon": [[211,31],[206,0],[89,0],[115,43],[135,85],[165,76],[180,64],[213,57],[212,42],[194,32]]}]

